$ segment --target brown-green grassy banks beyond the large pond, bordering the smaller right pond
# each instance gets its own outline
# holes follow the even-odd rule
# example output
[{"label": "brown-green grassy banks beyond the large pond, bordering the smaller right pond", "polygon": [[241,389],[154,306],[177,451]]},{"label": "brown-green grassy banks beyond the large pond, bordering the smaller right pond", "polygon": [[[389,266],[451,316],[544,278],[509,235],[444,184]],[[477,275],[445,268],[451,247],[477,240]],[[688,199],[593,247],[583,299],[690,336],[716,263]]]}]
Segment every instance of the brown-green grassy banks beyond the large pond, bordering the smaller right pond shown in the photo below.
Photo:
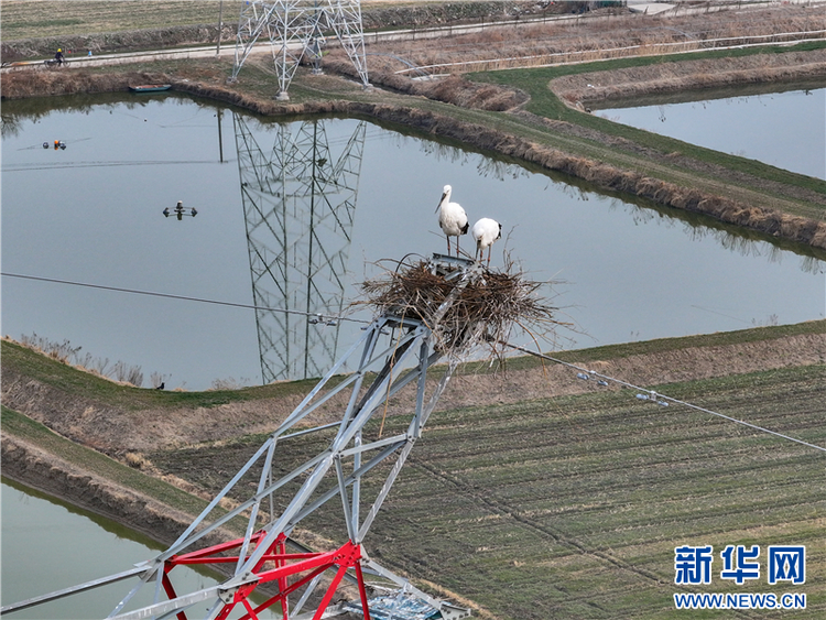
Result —
[{"label": "brown-green grassy banks beyond the large pond, bordering the smaller right pond", "polygon": [[[710,75],[708,63],[702,65],[706,74],[704,85],[822,79],[826,76],[825,58],[826,51],[822,48],[756,54],[747,62],[751,68],[743,70],[741,58],[720,57],[714,61],[717,70]],[[604,119],[594,119],[586,112],[570,110],[574,116],[556,120],[552,117],[554,112],[543,116],[530,111],[537,97],[550,94],[544,87],[542,94],[531,93],[528,100],[524,91],[520,93],[510,84],[482,84],[464,77],[435,83],[413,83],[405,78],[406,86],[402,88],[398,76],[379,72],[371,76],[379,88],[365,91],[347,78],[346,63],[330,61],[327,66],[334,72],[340,70],[340,76],[300,75],[291,89],[292,100],[284,102],[272,98],[272,76],[263,66],[265,63],[249,63],[242,79],[232,85],[226,84],[228,63],[191,59],[128,67],[8,72],[3,74],[3,98],[126,91],[135,84],[164,83],[175,90],[264,116],[369,118],[404,131],[512,157],[543,171],[564,173],[604,191],[644,197],[774,238],[826,249],[826,222],[823,221],[826,183],[757,162],[743,164],[736,157],[717,161],[709,155],[710,159],[706,159],[705,153],[688,150],[680,141],[660,140],[649,144],[648,137],[642,134],[629,139],[606,130],[607,126],[595,126],[594,120]],[[591,76],[586,68],[583,73]],[[667,70],[673,84],[680,81],[681,73],[689,79],[698,69],[696,63],[670,58]],[[535,75],[542,79],[542,73]],[[644,75],[651,78],[653,91],[663,88],[662,69],[648,70]],[[610,91],[600,94],[602,101],[629,91],[639,95],[644,75],[638,70],[634,79],[618,81]],[[529,79],[535,81],[536,78]],[[555,88],[559,88],[556,84]],[[587,85],[565,88],[573,90],[561,93],[561,100],[569,102],[583,88],[587,89]]]}]

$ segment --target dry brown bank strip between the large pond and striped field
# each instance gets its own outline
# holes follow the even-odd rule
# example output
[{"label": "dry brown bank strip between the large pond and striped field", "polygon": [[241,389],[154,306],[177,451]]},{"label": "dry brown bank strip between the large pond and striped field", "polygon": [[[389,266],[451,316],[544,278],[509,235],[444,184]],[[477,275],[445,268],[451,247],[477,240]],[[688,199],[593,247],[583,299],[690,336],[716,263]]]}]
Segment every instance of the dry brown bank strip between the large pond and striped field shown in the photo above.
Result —
[{"label": "dry brown bank strip between the large pond and striped field", "polygon": [[[825,355],[826,334],[803,334],[756,342],[677,348],[618,359],[574,359],[572,363],[645,388],[819,363]],[[436,379],[428,381],[435,382]],[[466,370],[457,372],[448,383],[436,411],[550,399],[595,389],[598,388],[578,380],[575,370],[553,362],[546,362],[544,368],[535,366],[493,373]],[[412,387],[405,388],[391,399],[388,413],[402,412],[413,390]],[[74,442],[116,458],[123,458],[128,453],[171,449],[269,433],[303,398],[304,392],[295,392],[283,398],[260,398],[210,407],[127,411],[91,399],[67,396],[61,390],[32,380],[14,368],[2,367],[2,400],[6,406]],[[307,423],[323,424],[340,420],[346,399],[346,394],[332,399],[314,412]]]}]

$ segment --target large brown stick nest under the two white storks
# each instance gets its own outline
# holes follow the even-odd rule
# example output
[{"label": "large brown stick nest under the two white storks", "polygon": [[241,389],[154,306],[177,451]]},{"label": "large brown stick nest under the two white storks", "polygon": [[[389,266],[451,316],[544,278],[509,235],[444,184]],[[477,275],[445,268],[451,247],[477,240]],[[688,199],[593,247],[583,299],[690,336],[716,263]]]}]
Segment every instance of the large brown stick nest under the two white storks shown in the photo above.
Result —
[{"label": "large brown stick nest under the two white storks", "polygon": [[[437,350],[463,356],[483,345],[501,357],[514,327],[535,339],[561,325],[554,319],[558,308],[546,303],[539,291],[546,284],[524,278],[521,271],[490,271],[480,264],[469,268],[461,287],[459,267],[445,268],[433,261],[402,264],[394,271],[362,283],[367,297],[379,314],[421,319],[433,331]],[[452,293],[459,287],[458,295]],[[445,306],[445,302],[448,304]]]}]

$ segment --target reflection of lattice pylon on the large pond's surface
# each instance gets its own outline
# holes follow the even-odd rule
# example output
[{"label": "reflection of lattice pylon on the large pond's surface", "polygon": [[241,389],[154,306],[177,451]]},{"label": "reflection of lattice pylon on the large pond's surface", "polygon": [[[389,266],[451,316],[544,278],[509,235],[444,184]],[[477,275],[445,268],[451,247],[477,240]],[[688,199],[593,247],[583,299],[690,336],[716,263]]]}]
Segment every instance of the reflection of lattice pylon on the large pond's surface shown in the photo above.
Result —
[{"label": "reflection of lattice pylon on the large pond's surface", "polygon": [[338,154],[323,119],[279,126],[269,153],[233,126],[263,382],[320,377],[338,358],[367,124]]}]

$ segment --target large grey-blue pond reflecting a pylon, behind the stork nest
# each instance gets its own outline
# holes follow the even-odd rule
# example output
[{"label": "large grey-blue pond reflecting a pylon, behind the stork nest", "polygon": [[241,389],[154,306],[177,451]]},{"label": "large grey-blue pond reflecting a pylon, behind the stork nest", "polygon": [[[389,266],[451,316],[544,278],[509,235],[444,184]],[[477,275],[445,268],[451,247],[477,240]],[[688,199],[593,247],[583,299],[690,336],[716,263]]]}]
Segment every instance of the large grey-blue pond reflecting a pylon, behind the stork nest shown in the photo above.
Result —
[{"label": "large grey-blue pond reflecting a pylon, behind the stork nest", "polygon": [[[544,350],[826,312],[823,253],[363,121],[279,123],[175,95],[2,113],[2,334],[140,367],[144,387],[323,373],[361,327],[328,317],[393,268],[377,263],[445,252],[445,184],[471,221],[502,224],[494,267],[509,252],[556,282],[545,294],[574,328]],[[164,217],[177,200],[196,217]]]}]

